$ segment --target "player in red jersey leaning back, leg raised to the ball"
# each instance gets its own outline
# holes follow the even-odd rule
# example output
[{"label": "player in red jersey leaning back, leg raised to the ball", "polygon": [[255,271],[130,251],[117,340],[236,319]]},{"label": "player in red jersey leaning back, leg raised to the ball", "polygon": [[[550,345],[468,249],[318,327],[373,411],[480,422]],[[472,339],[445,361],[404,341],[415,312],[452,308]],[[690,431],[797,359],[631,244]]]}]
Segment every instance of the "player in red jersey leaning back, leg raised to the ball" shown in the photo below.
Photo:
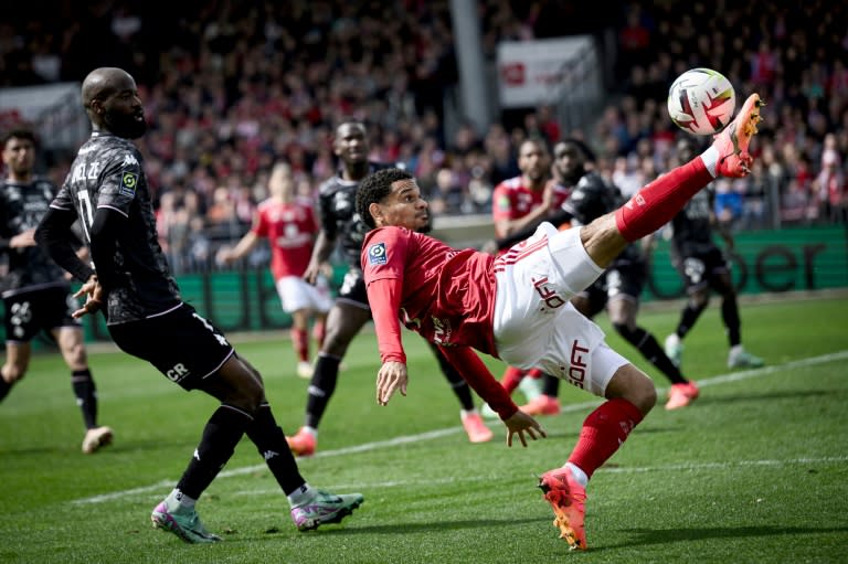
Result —
[{"label": "player in red jersey leaning back, leg raised to the ball", "polygon": [[[561,536],[572,549],[585,550],[589,479],[654,407],[657,393],[644,372],[606,345],[603,331],[577,312],[570,298],[629,243],[665,225],[714,178],[750,173],[748,147],[761,120],[761,105],[760,97],[751,95],[709,149],[644,187],[622,207],[580,228],[558,232],[542,223],[530,238],[497,258],[417,233],[430,214],[409,172],[389,169],[365,178],[357,212],[373,230],[362,245],[362,269],[382,360],[378,403],[386,405],[398,390],[406,394],[401,320],[437,343],[454,365],[464,366],[464,377],[486,379],[463,362],[474,348],[520,369],[539,368],[604,397],[583,422],[568,462],[545,472],[539,483]],[[478,386],[478,392],[504,419],[518,411],[495,403],[494,387]]]}]

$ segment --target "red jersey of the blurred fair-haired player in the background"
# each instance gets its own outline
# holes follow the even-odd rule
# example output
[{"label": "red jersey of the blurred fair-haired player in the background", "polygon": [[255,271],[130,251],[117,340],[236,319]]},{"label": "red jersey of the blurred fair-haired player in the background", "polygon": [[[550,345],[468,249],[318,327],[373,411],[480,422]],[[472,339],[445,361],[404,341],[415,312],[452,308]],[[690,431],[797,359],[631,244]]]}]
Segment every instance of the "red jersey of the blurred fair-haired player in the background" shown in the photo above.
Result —
[{"label": "red jersey of the blurred fair-haired player in the background", "polygon": [[271,272],[275,280],[284,276],[303,276],[318,232],[311,205],[303,201],[265,200],[258,205],[253,232],[268,240]]}]

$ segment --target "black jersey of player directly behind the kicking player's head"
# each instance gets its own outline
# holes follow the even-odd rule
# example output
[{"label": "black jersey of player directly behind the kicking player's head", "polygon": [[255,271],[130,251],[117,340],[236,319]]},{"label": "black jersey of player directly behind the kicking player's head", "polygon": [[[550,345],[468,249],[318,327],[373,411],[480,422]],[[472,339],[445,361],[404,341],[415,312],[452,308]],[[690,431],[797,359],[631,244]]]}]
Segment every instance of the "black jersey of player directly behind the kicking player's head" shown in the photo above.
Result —
[{"label": "black jersey of player directly behind the kicking player's head", "polygon": [[[370,171],[389,168],[390,164],[370,163]],[[350,181],[336,174],[318,189],[318,215],[321,228],[339,244],[342,257],[350,268],[361,268],[362,241],[371,230],[357,213],[359,181]]]}]

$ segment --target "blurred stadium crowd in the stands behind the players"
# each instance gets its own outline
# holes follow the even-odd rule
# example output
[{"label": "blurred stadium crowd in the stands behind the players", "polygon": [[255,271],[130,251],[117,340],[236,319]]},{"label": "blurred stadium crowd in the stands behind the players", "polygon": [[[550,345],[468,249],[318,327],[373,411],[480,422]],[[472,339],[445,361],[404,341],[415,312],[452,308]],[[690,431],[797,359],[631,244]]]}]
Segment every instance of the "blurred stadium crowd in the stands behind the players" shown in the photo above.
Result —
[{"label": "blurred stadium crowd in the stands behind the players", "polygon": [[[674,162],[685,134],[668,119],[667,88],[693,66],[724,73],[738,106],[754,91],[768,103],[753,174],[716,183],[720,219],[734,228],[846,222],[844,4],[628,2],[617,18],[554,0],[478,4],[492,64],[502,40],[615,38],[611,102],[592,127],[563,131],[554,108],[539,107],[518,125],[465,123],[448,136],[449,0],[192,0],[167,18],[131,0],[17,4],[0,19],[0,87],[80,81],[100,65],[136,76],[150,123],[139,147],[178,273],[213,266],[215,247],[244,234],[275,161],[312,196],[335,170],[330,137],[344,119],[368,125],[371,159],[403,162],[437,213],[490,213],[492,187],[518,174],[517,148],[532,135],[582,138],[628,194]],[[61,182],[68,161],[51,164]]]}]

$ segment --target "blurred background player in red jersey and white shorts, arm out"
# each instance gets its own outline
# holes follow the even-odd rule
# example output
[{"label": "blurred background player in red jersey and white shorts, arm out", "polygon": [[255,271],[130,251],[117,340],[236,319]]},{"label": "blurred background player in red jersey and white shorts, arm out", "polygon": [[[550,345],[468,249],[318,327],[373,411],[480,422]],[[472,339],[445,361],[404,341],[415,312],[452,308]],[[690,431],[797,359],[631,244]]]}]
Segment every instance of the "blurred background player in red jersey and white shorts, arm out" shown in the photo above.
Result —
[{"label": "blurred background player in red jersey and white shorts, arm out", "polygon": [[235,245],[222,248],[218,259],[232,264],[244,257],[262,238],[271,246],[271,272],[283,310],[292,316],[292,344],[297,354],[297,375],[311,377],[309,362],[309,320],[315,318],[312,336],[321,347],[327,312],[332,306],[327,279],[319,277],[315,286],[303,276],[312,255],[318,222],[310,202],[295,196],[292,167],[277,163],[268,179],[271,198],[256,210],[253,227]]}]

